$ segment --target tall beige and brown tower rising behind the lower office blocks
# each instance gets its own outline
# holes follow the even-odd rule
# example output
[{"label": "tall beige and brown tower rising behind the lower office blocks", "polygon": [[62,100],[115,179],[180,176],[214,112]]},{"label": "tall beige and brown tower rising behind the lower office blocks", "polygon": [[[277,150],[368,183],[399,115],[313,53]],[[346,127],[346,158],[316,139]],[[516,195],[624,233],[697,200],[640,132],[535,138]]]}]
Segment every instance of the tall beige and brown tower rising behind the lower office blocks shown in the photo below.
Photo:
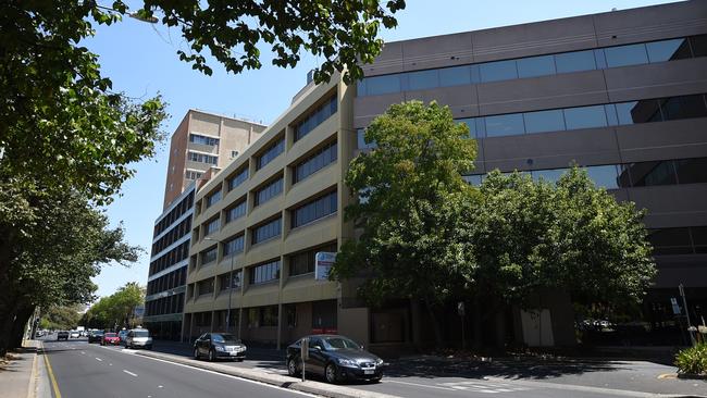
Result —
[{"label": "tall beige and brown tower rising behind the lower office blocks", "polygon": [[210,167],[228,164],[264,129],[259,123],[190,109],[172,135],[163,208]]}]

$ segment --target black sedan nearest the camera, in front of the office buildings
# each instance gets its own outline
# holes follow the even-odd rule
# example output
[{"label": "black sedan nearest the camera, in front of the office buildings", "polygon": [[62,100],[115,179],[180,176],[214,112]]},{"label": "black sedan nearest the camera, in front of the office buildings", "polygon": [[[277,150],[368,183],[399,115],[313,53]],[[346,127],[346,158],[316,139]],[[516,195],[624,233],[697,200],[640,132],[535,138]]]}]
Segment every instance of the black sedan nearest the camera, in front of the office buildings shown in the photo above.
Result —
[{"label": "black sedan nearest the camera, in front of the office buildings", "polygon": [[[309,339],[309,359],[305,372],[323,375],[328,383],[345,380],[380,381],[383,377],[383,360],[348,337],[338,335],[312,335]],[[287,373],[297,376],[302,371],[301,344],[299,339],[287,347]]]}]

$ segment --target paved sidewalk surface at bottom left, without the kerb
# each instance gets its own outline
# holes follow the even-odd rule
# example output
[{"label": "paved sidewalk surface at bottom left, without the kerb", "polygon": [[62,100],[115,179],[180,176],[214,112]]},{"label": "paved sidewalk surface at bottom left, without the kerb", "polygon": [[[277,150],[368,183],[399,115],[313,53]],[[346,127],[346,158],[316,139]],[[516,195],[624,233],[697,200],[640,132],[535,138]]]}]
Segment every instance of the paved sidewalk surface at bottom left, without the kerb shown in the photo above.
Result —
[{"label": "paved sidewalk surface at bottom left, without the kerb", "polygon": [[9,361],[0,361],[0,398],[36,397],[38,341],[25,340],[23,345],[8,353]]}]

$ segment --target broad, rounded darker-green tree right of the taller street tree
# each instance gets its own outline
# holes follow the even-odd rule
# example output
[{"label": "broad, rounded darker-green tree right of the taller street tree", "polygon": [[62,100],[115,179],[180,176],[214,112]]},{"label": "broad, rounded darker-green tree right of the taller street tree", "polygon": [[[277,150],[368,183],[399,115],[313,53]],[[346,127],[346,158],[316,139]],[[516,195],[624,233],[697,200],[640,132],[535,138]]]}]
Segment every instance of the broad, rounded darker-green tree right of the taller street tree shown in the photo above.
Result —
[{"label": "broad, rounded darker-green tree right of the taller street tree", "polygon": [[[509,304],[526,306],[539,289],[565,291],[581,304],[640,302],[656,273],[644,214],[576,166],[555,184],[489,173],[467,235],[477,264],[470,290],[481,316],[474,324]],[[503,336],[503,316],[498,321]],[[474,340],[481,343],[479,328]]]}]

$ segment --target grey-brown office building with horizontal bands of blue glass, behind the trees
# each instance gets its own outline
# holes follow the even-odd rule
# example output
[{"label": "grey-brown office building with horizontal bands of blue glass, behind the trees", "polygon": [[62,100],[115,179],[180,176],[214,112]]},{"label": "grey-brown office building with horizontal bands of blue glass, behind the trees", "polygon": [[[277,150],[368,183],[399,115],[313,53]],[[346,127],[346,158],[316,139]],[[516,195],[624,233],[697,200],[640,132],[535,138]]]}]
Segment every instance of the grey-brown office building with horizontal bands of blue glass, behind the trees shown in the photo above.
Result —
[{"label": "grey-brown office building with horizontal bands of blue glass, behind the trees", "polygon": [[[671,306],[680,284],[693,321],[707,319],[707,1],[389,42],[363,69],[360,150],[388,105],[435,100],[479,141],[472,184],[495,169],[555,181],[585,166],[648,210],[659,273],[642,309],[646,338],[681,343]],[[414,309],[395,311],[414,323]],[[573,338],[555,332],[556,344]]]}]

